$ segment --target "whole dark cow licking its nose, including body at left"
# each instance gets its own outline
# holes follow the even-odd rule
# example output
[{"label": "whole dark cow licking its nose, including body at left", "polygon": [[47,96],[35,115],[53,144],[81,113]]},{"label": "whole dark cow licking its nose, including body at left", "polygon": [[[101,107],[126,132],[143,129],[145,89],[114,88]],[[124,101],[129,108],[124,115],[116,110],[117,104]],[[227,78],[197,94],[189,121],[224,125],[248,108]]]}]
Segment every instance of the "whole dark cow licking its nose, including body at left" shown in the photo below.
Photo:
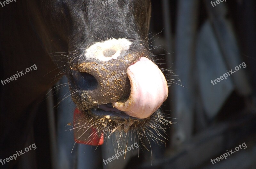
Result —
[{"label": "whole dark cow licking its nose, including body at left", "polygon": [[0,84],[0,158],[23,148],[37,103],[64,75],[81,119],[101,133],[168,123],[159,110],[167,82],[148,48],[150,0],[23,0],[0,8],[1,79],[37,68]]}]

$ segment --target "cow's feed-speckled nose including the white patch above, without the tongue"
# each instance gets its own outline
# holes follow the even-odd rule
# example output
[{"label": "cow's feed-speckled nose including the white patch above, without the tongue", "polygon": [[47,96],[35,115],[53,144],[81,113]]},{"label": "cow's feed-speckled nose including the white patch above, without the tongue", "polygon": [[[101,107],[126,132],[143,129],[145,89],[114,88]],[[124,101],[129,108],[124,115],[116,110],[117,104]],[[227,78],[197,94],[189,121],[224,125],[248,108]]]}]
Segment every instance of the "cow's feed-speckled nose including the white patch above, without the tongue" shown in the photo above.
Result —
[{"label": "cow's feed-speckled nose including the white patch above, without the tongue", "polygon": [[130,45],[132,42],[127,39],[97,42],[78,60],[78,72],[74,75],[87,108],[129,97],[131,85],[126,71],[141,57],[129,52]]}]

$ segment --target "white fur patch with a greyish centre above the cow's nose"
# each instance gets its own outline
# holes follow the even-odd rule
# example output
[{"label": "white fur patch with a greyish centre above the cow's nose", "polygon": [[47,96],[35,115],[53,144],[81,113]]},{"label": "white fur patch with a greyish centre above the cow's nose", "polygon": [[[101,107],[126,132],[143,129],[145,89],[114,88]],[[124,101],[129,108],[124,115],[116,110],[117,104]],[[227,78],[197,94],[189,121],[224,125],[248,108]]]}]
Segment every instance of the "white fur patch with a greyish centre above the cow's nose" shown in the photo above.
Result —
[{"label": "white fur patch with a greyish centre above the cow's nose", "polygon": [[86,59],[99,59],[100,61],[109,61],[117,59],[121,52],[130,48],[132,42],[125,38],[109,39],[104,42],[97,42],[85,50]]}]

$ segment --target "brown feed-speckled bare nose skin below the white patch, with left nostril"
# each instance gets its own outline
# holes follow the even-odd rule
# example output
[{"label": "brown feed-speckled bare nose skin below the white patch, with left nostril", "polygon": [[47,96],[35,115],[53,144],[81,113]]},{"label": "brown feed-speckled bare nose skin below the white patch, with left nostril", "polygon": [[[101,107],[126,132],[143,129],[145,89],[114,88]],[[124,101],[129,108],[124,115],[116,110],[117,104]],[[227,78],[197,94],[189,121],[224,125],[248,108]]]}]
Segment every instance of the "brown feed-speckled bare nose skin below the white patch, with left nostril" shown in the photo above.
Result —
[{"label": "brown feed-speckled bare nose skin below the white patch, with left nostril", "polygon": [[83,97],[91,98],[91,100],[86,99],[91,101],[91,107],[129,96],[130,82],[126,75],[127,67],[125,62],[118,60],[85,62],[79,65],[79,71],[76,73],[79,81],[77,86],[83,90]]}]

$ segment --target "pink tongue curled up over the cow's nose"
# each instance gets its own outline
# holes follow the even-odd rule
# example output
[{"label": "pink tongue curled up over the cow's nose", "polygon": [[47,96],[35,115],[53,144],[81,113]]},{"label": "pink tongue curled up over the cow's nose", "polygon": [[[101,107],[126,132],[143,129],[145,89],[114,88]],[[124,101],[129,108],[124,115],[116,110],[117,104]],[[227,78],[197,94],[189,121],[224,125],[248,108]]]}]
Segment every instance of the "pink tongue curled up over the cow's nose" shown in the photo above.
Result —
[{"label": "pink tongue curled up over the cow's nose", "polygon": [[144,119],[153,114],[167,99],[168,86],[161,70],[146,57],[127,69],[131,94],[125,102],[112,102],[113,107],[126,114]]}]

